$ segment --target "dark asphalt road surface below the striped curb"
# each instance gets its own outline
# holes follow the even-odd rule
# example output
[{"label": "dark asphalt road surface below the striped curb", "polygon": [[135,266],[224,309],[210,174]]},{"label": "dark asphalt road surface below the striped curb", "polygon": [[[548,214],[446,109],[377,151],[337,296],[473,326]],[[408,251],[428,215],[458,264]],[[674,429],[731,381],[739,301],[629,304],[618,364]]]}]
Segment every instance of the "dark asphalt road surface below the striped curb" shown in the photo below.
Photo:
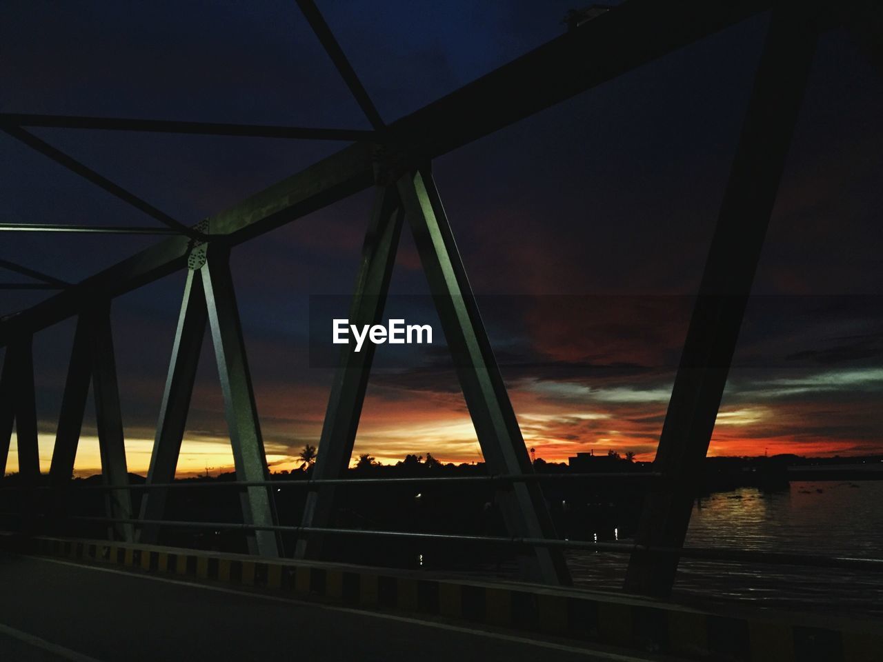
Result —
[{"label": "dark asphalt road surface below the striped curb", "polygon": [[63,560],[0,554],[0,659],[638,662],[389,613],[366,613]]}]

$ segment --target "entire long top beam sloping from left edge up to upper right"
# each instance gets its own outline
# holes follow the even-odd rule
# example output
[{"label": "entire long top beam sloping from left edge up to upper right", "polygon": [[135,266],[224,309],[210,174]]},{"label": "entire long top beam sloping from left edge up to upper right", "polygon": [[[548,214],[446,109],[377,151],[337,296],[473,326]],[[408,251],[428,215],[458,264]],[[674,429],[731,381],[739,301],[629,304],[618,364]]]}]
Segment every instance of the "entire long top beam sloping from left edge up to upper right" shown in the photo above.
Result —
[{"label": "entire long top beam sloping from left edge up to upper right", "polygon": [[[584,26],[461,87],[389,127],[424,162],[747,19],[772,0],[627,0]],[[375,182],[374,146],[359,142],[269,186],[210,220],[232,244],[363,191]],[[170,237],[72,291],[0,321],[0,344],[76,314],[84,300],[116,297],[186,263],[191,244]]]}]

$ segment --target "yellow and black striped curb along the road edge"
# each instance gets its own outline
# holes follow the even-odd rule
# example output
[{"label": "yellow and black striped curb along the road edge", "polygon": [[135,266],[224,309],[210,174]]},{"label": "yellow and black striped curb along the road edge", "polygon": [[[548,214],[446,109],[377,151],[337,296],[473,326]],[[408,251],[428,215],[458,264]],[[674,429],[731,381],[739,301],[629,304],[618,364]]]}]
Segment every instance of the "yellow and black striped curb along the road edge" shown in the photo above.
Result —
[{"label": "yellow and black striped curb along the road edge", "polygon": [[649,599],[524,583],[436,578],[243,554],[100,540],[0,535],[9,551],[115,563],[147,572],[283,591],[348,606],[398,609],[699,660],[879,662],[883,627],[774,613],[711,613]]}]

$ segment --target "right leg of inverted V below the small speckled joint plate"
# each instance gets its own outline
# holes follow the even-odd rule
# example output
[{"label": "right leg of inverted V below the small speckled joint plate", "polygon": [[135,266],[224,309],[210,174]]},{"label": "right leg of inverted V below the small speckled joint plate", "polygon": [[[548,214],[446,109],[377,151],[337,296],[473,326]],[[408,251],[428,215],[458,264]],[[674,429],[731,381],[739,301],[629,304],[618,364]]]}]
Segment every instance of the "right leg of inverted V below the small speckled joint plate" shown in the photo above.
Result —
[{"label": "right leg of inverted V below the small speckled joint plate", "polygon": [[[208,325],[215,345],[215,360],[221,378],[236,476],[238,480],[268,480],[267,455],[264,453],[252,380],[245,360],[245,341],[229,260],[229,248],[212,245],[208,249],[208,260],[200,268],[208,307]],[[275,525],[275,506],[270,488],[247,487],[240,493],[240,499],[245,523]],[[256,530],[248,540],[252,553],[279,556],[281,545],[274,531]]]}]

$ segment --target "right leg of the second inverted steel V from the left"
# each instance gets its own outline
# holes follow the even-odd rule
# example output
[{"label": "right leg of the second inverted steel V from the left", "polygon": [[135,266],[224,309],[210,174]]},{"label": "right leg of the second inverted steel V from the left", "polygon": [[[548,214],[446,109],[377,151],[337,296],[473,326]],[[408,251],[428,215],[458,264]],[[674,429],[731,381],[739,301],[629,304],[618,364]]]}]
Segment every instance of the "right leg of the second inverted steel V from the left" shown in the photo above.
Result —
[{"label": "right leg of the second inverted steel V from the left", "polygon": [[[129,493],[129,473],[125,460],[123,416],[119,404],[117,359],[113,349],[110,328],[110,305],[89,312],[92,336],[92,388],[95,401],[95,423],[98,428],[98,448],[102,459],[104,485],[118,489],[104,494],[108,516],[115,519],[132,518],[132,497]],[[110,538],[128,542],[134,540],[131,523],[112,523]]]}]

